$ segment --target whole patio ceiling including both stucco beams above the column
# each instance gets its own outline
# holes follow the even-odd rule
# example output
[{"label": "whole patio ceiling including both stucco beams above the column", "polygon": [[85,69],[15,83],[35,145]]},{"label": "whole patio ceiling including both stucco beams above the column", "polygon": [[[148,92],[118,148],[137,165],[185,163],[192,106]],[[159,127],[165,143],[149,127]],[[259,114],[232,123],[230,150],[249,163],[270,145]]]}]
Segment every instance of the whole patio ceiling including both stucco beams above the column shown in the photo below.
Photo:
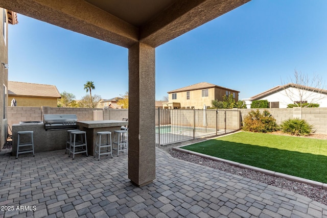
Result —
[{"label": "whole patio ceiling including both stucco beams above the column", "polygon": [[0,0],[0,7],[124,47],[157,47],[250,0]]}]

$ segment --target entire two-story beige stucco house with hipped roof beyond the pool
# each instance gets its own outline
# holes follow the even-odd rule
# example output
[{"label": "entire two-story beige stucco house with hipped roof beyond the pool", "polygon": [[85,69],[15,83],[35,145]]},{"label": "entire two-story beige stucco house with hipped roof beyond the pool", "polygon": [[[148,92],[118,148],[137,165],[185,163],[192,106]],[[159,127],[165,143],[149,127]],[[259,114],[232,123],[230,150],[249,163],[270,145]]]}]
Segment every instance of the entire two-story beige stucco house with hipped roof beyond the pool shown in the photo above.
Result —
[{"label": "entire two-story beige stucco house with hipped roof beyond the pool", "polygon": [[239,101],[239,91],[202,82],[168,92],[169,102],[163,103],[164,108],[203,109],[203,106],[211,107],[212,100],[223,100],[223,96],[233,95],[235,101]]}]

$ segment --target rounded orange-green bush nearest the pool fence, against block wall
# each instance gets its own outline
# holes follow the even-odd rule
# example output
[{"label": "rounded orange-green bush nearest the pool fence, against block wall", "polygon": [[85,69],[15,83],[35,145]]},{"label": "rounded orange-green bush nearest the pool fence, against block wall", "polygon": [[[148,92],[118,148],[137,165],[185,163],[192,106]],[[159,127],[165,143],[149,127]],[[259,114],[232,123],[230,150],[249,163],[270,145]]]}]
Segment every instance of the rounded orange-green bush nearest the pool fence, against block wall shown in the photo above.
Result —
[{"label": "rounded orange-green bush nearest the pool fence, against block wall", "polygon": [[250,132],[273,132],[278,130],[276,119],[268,110],[260,113],[259,110],[251,110],[243,120],[243,130]]}]

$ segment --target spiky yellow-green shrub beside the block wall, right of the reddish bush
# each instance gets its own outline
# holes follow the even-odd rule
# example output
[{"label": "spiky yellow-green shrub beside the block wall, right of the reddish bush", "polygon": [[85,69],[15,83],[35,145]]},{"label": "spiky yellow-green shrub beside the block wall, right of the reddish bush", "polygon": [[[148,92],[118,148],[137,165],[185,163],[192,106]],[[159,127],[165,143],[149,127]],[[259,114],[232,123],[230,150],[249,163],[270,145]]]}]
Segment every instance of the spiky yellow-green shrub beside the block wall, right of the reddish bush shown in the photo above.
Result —
[{"label": "spiky yellow-green shrub beside the block wall, right of the reddish bush", "polygon": [[313,133],[313,125],[310,125],[304,119],[293,118],[284,120],[281,130],[291,135],[310,135]]}]

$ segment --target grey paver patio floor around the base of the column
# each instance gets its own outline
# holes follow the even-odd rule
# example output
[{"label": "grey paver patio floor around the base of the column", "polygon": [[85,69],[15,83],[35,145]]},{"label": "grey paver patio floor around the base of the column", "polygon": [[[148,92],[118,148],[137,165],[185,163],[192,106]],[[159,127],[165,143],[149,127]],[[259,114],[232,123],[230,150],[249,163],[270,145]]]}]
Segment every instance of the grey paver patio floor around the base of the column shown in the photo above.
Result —
[{"label": "grey paver patio floor around the base of the column", "polygon": [[156,179],[136,187],[127,156],[72,160],[60,150],[15,159],[3,150],[0,217],[327,217],[327,206],[307,197],[158,148]]}]

